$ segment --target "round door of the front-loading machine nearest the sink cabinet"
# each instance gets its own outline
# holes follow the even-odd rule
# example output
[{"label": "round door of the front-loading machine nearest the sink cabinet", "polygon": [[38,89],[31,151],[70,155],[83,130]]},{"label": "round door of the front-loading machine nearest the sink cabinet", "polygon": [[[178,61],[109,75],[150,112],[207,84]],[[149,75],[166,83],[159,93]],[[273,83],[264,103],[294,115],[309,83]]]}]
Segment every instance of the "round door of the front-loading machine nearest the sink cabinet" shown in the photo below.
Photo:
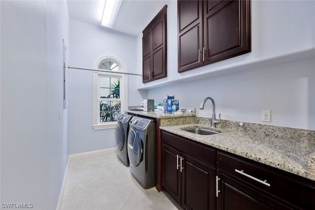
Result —
[{"label": "round door of the front-loading machine nearest the sink cabinet", "polygon": [[143,143],[136,128],[129,129],[127,150],[130,164],[138,166],[142,161]]}]

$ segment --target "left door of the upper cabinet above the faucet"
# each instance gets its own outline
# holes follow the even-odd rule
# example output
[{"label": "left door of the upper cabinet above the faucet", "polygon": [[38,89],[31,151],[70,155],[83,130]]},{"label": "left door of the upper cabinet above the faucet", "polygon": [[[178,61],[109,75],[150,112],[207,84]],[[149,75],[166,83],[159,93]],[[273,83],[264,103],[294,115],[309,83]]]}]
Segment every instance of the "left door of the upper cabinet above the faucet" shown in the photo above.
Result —
[{"label": "left door of the upper cabinet above the faucet", "polygon": [[178,72],[203,65],[202,1],[178,1]]}]

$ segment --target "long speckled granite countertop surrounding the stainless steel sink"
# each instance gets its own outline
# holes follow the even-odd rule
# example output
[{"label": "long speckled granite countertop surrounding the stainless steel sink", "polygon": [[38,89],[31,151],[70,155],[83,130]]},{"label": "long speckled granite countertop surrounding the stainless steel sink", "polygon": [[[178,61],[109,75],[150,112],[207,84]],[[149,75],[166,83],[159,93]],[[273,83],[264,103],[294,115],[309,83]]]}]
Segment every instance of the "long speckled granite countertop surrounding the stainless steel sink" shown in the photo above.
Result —
[{"label": "long speckled granite countertop surrounding the stainless steel sink", "polygon": [[[209,123],[161,124],[160,129],[315,180],[315,131],[251,123],[241,127],[235,121],[223,124],[216,129]],[[221,134],[203,136],[183,131],[196,127]]]}]

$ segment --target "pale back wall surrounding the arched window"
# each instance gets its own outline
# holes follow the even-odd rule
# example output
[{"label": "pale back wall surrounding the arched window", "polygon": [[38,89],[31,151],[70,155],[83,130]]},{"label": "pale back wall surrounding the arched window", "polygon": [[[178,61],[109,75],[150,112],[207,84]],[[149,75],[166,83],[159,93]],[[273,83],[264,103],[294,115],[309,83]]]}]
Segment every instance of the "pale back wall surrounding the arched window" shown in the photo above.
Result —
[{"label": "pale back wall surrounding the arched window", "polygon": [[[70,20],[70,48],[70,67],[95,68],[100,58],[110,55],[122,60],[126,71],[135,72],[136,36]],[[92,71],[69,69],[68,73],[70,154],[116,147],[114,129],[95,131],[92,128]],[[135,77],[129,76],[129,99],[131,100],[134,97],[141,98],[133,87]]]}]

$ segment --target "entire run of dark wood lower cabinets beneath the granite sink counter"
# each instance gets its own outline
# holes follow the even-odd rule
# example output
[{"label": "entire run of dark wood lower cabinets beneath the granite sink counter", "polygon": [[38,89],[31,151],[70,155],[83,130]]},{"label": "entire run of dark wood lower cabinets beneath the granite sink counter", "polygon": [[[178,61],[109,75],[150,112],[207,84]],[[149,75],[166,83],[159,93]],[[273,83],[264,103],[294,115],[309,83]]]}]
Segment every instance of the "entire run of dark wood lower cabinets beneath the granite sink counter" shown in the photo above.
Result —
[{"label": "entire run of dark wood lower cabinets beneath the granite sink counter", "polygon": [[315,181],[165,131],[161,185],[187,210],[315,210]]}]

